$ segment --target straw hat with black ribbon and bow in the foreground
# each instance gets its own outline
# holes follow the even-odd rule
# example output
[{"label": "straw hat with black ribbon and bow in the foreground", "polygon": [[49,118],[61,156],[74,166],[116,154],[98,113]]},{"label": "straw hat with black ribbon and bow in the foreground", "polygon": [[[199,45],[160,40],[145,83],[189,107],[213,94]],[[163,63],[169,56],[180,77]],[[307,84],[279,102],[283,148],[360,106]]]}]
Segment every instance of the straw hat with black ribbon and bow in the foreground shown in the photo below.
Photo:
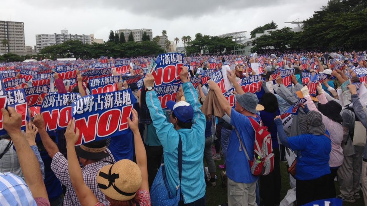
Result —
[{"label": "straw hat with black ribbon and bow in the foreground", "polygon": [[97,173],[99,189],[111,199],[128,201],[135,197],[142,177],[139,166],[129,159],[121,159],[113,165],[106,165]]}]

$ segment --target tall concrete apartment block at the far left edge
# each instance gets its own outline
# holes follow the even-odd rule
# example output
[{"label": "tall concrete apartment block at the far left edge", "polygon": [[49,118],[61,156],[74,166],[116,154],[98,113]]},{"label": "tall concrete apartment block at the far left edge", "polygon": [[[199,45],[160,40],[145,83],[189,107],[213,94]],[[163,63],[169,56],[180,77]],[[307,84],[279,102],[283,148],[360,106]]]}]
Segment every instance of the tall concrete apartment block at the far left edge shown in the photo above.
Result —
[{"label": "tall concrete apartment block at the far left edge", "polygon": [[25,53],[24,23],[0,21],[0,41],[4,39],[8,44],[4,47],[0,42],[0,54],[7,52]]}]

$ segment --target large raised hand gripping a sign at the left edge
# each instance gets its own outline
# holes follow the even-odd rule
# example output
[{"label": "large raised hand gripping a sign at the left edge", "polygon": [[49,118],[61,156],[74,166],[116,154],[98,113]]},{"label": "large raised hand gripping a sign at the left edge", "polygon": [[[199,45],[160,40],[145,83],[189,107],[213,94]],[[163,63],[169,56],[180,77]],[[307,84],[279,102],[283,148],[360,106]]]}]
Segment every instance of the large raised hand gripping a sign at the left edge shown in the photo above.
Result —
[{"label": "large raised hand gripping a sign at the left edge", "polygon": [[8,110],[1,108],[3,113],[3,126],[10,137],[22,135],[22,115],[15,111],[14,107],[8,107]]}]

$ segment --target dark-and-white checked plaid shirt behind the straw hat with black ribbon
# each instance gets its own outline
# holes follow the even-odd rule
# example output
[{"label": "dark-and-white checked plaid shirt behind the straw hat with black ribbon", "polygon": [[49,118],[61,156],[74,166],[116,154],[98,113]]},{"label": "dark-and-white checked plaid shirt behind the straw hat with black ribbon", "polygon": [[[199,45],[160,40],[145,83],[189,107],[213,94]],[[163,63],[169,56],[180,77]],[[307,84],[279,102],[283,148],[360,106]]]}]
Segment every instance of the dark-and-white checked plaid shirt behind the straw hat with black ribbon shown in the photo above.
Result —
[{"label": "dark-and-white checked plaid shirt behind the straw hat with black ribbon", "polygon": [[[115,162],[115,159],[113,159],[111,152],[108,149],[107,151],[110,154],[110,157],[107,157],[105,159],[102,159],[101,161],[86,165],[83,168],[81,168],[84,183],[86,183],[86,185],[92,190],[94,195],[97,197],[98,201],[102,202],[105,205],[109,205],[109,202],[107,201],[103,192],[98,188],[97,172],[103,166]],[[63,206],[81,206],[70,180],[68,170],[68,160],[61,154],[61,152],[57,152],[54,158],[52,158],[51,170],[55,173],[56,177],[61,181],[61,183],[66,187],[66,194],[64,197]]]}]

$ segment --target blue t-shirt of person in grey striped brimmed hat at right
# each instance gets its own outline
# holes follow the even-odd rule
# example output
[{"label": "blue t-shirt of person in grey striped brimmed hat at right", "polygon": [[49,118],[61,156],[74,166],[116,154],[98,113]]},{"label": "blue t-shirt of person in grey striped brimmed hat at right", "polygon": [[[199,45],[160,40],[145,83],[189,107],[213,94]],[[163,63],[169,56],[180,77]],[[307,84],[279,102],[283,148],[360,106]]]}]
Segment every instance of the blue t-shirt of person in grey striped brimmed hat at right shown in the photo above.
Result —
[{"label": "blue t-shirt of person in grey striped brimmed hat at right", "polygon": [[330,174],[331,140],[327,136],[304,134],[288,137],[287,141],[290,148],[300,154],[297,157],[296,179],[314,180]]}]

